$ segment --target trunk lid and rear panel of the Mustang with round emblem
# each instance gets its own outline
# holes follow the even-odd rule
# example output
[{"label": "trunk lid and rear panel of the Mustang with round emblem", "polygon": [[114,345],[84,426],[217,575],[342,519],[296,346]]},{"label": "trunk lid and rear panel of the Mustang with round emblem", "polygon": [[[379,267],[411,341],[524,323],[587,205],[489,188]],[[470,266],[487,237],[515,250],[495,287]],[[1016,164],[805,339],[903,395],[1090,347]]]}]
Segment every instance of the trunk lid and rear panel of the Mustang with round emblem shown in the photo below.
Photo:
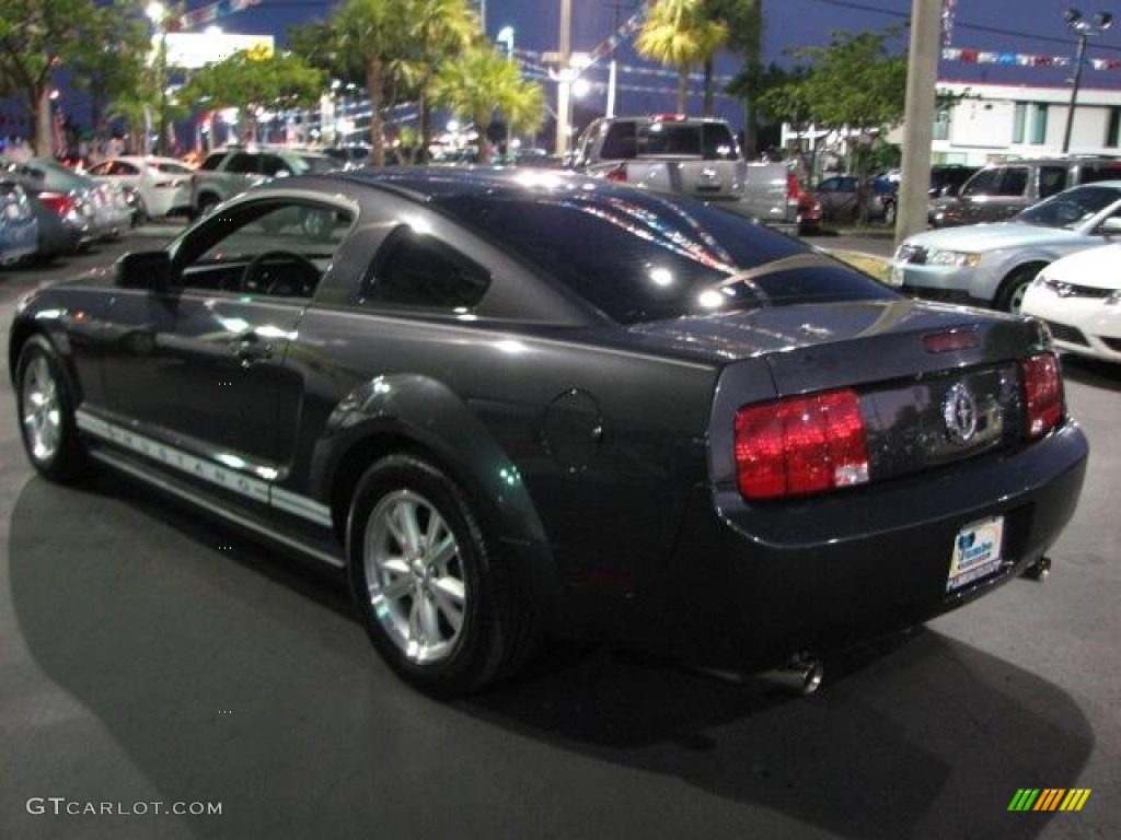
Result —
[{"label": "trunk lid and rear panel of the Mustang with round emblem", "polygon": [[1021,360],[1046,353],[1036,321],[912,300],[772,307],[633,327],[656,344],[722,360],[710,439],[713,478],[734,480],[741,409],[853,391],[869,480],[1021,446]]}]

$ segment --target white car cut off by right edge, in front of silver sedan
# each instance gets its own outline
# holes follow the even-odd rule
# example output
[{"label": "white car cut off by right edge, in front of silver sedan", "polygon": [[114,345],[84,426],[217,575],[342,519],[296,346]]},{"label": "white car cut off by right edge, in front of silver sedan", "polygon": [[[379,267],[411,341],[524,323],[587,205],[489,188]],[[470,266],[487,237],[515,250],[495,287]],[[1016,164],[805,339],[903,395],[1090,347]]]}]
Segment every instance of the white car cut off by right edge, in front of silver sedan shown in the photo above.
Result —
[{"label": "white car cut off by right edge, in front of silver sedan", "polygon": [[1056,260],[1028,288],[1020,311],[1044,320],[1059,349],[1121,362],[1121,244]]}]

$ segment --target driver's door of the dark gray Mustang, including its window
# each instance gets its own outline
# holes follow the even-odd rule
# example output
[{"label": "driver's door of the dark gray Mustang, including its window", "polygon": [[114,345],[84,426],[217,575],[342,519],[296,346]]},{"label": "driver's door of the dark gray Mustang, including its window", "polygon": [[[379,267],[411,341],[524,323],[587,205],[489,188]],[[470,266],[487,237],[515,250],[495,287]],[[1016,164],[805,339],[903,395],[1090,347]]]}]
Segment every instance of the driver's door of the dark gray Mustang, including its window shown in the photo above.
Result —
[{"label": "driver's door of the dark gray Mustang, including its window", "polygon": [[103,351],[109,408],[180,449],[282,473],[302,399],[285,353],[341,241],[311,214],[340,218],[306,199],[241,202],[180,241],[170,288],[122,291]]}]

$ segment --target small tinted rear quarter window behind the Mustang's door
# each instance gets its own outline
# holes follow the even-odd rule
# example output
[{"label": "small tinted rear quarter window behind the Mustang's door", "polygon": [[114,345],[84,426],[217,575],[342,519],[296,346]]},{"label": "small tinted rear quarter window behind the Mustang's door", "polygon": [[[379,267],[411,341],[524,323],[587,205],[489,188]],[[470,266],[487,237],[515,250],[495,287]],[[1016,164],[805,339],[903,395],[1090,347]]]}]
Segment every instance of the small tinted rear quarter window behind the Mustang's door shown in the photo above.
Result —
[{"label": "small tinted rear quarter window behind the Mustang's door", "polygon": [[471,309],[489,286],[485,269],[402,226],[389,235],[374,259],[362,301],[439,311]]}]

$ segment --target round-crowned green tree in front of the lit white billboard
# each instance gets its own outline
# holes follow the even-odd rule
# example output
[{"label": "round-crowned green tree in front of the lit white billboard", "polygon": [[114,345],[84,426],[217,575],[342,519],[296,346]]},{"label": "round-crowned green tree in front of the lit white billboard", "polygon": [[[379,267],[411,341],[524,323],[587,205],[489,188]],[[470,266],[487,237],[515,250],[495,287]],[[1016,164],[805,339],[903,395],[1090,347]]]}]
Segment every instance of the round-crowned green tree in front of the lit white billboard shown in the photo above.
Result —
[{"label": "round-crowned green tree in front of the lit white billboard", "polygon": [[206,106],[238,108],[249,114],[251,139],[257,138],[253,114],[258,108],[298,106],[317,101],[324,88],[323,71],[309,67],[291,53],[242,49],[192,74],[178,95]]}]

